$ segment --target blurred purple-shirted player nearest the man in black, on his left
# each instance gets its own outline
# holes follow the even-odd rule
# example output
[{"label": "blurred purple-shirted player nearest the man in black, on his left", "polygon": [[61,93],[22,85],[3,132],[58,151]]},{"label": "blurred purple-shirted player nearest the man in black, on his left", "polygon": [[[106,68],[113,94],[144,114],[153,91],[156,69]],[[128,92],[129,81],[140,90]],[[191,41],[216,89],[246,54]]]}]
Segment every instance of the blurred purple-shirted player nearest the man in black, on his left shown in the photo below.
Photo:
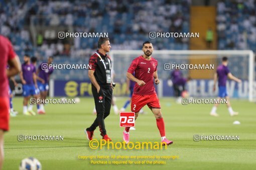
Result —
[{"label": "blurred purple-shirted player nearest the man in black, on his left", "polygon": [[[47,62],[43,62],[38,66],[37,69],[37,83],[40,90],[40,96],[42,99],[46,99],[48,91],[49,91],[49,79],[50,75],[53,73],[53,68],[49,67],[49,64],[53,62],[53,57],[49,56]],[[44,65],[48,65],[47,67],[44,67]],[[44,104],[40,105],[40,108],[42,109],[42,113],[45,113]]]}]

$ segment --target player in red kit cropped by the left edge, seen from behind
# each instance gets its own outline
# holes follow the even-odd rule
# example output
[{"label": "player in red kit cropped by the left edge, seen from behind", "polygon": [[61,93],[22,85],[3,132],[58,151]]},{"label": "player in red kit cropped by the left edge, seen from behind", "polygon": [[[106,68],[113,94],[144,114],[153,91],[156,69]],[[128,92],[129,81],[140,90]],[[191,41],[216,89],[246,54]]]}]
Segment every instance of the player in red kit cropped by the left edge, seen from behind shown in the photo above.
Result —
[{"label": "player in red kit cropped by the left edge, seen from behind", "polygon": [[[0,35],[0,170],[4,161],[4,131],[9,130],[9,80],[21,71],[21,62],[13,50],[12,43]],[[7,65],[9,64],[9,69]]]}]

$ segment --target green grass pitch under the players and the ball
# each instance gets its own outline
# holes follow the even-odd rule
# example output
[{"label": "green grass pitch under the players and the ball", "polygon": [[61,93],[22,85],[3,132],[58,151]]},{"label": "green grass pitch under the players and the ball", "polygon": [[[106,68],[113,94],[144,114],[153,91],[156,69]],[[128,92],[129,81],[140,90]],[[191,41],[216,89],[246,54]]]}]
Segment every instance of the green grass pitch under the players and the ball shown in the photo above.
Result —
[{"label": "green grass pitch under the players and the ball", "polygon": [[[125,97],[117,98],[121,107]],[[211,104],[177,104],[174,98],[161,98],[166,135],[174,143],[163,150],[112,150],[89,148],[84,128],[94,120],[92,98],[81,98],[77,104],[48,104],[46,115],[22,115],[22,98],[14,98],[19,111],[11,117],[10,131],[5,134],[4,169],[18,169],[21,160],[33,156],[40,160],[43,169],[255,169],[256,123],[255,103],[232,99],[231,104],[238,116],[230,117],[225,105],[217,109],[219,117],[209,115]],[[129,107],[130,108],[130,107]],[[131,130],[131,141],[160,141],[160,134],[153,113],[139,115],[136,130]],[[34,106],[36,110],[36,106]],[[129,109],[127,109],[128,111]],[[241,124],[232,122],[239,120]],[[106,130],[113,141],[122,141],[119,116],[111,109],[105,120]],[[63,141],[26,140],[19,142],[17,136],[63,135]],[[98,128],[94,138],[100,139]],[[237,141],[193,141],[193,135],[239,135]],[[78,155],[177,155],[178,159],[166,164],[91,164],[78,159]]]}]

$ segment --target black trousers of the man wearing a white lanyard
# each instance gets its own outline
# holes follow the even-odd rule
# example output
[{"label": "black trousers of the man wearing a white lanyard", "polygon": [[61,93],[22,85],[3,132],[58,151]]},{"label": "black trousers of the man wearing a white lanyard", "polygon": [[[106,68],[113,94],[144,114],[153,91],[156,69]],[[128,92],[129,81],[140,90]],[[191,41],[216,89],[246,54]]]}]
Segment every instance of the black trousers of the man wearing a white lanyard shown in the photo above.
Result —
[{"label": "black trousers of the man wearing a white lanyard", "polygon": [[88,128],[89,131],[94,131],[99,126],[100,135],[106,134],[104,119],[109,115],[112,101],[113,89],[100,87],[99,92],[94,85],[91,85],[92,94],[94,97],[94,103],[96,107],[97,117],[94,122]]}]

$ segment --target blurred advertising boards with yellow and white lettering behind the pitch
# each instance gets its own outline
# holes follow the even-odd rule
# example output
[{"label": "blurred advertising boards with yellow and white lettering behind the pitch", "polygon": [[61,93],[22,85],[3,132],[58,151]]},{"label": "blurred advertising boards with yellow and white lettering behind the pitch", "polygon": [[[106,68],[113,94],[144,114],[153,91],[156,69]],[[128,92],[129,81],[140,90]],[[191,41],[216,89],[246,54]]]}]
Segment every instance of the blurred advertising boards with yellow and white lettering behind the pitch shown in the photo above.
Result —
[{"label": "blurred advertising boards with yellow and white lettering behind the pitch", "polygon": [[[127,96],[125,93],[126,83],[116,81],[113,93],[115,96]],[[168,80],[161,80],[159,85],[155,85],[158,95],[170,97],[173,96],[173,87],[168,84]],[[53,86],[54,96],[92,96],[90,81],[81,80],[54,80]],[[187,83],[186,89],[190,96],[193,97],[216,97],[218,91],[212,91],[213,80],[209,79],[194,79]],[[234,81],[227,82],[227,89],[229,96],[234,98],[247,98],[248,97],[248,81],[243,80],[242,83],[237,84]],[[256,91],[256,81],[253,82],[253,90]]]}]

